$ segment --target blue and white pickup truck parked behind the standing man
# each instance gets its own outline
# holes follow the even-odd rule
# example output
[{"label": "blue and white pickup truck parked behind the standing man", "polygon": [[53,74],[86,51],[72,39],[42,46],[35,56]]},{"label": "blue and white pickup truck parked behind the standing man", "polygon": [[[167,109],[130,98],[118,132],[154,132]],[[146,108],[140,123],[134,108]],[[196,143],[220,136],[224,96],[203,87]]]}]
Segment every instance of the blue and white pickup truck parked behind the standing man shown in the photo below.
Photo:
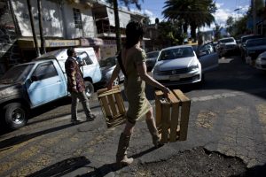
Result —
[{"label": "blue and white pickup truck parked behind the standing man", "polygon": [[[83,75],[87,96],[91,96],[92,83],[101,79],[97,58],[91,48],[76,49],[76,52],[86,63]],[[0,79],[1,122],[18,129],[27,124],[33,108],[69,96],[65,61],[66,50],[58,50],[32,62],[15,65],[4,73]]]}]

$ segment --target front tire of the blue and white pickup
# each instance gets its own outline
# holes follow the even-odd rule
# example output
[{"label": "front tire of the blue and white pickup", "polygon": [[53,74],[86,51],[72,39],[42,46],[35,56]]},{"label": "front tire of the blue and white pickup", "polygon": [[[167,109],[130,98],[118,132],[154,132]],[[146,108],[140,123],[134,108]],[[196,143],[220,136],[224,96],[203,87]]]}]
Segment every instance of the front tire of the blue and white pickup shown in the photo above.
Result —
[{"label": "front tire of the blue and white pickup", "polygon": [[20,103],[6,104],[4,106],[5,124],[11,129],[19,129],[27,124],[28,110]]}]

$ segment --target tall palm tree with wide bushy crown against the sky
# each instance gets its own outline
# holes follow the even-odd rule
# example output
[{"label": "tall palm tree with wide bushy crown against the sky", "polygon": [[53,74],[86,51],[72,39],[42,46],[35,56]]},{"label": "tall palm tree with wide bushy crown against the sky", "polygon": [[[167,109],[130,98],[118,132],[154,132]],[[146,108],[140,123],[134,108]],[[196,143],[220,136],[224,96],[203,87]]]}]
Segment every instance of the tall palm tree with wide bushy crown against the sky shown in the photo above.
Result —
[{"label": "tall palm tree with wide bushy crown against the sky", "polygon": [[213,0],[168,0],[165,4],[162,12],[164,17],[183,20],[184,33],[189,25],[193,39],[196,39],[197,27],[210,26],[215,21],[212,15],[216,11]]}]

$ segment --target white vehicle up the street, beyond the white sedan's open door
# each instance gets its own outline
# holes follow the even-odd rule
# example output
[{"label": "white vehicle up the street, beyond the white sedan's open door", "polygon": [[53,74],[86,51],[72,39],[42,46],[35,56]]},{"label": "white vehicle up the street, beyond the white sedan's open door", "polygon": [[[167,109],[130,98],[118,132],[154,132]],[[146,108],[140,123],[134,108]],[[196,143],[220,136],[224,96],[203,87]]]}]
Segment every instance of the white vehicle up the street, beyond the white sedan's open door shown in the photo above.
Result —
[{"label": "white vehicle up the street, beyond the white sedan's open door", "polygon": [[223,57],[228,53],[234,53],[239,49],[236,40],[233,37],[226,37],[218,40],[217,50],[219,57]]}]

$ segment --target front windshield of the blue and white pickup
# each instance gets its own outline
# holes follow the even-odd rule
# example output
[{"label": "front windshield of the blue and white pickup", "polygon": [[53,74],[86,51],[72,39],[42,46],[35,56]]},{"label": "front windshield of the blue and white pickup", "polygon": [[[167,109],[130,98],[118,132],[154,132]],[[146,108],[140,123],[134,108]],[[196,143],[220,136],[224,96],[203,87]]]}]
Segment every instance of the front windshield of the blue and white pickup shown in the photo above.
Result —
[{"label": "front windshield of the blue and white pickup", "polygon": [[34,64],[15,65],[4,73],[0,80],[2,83],[23,82],[33,66]]}]

